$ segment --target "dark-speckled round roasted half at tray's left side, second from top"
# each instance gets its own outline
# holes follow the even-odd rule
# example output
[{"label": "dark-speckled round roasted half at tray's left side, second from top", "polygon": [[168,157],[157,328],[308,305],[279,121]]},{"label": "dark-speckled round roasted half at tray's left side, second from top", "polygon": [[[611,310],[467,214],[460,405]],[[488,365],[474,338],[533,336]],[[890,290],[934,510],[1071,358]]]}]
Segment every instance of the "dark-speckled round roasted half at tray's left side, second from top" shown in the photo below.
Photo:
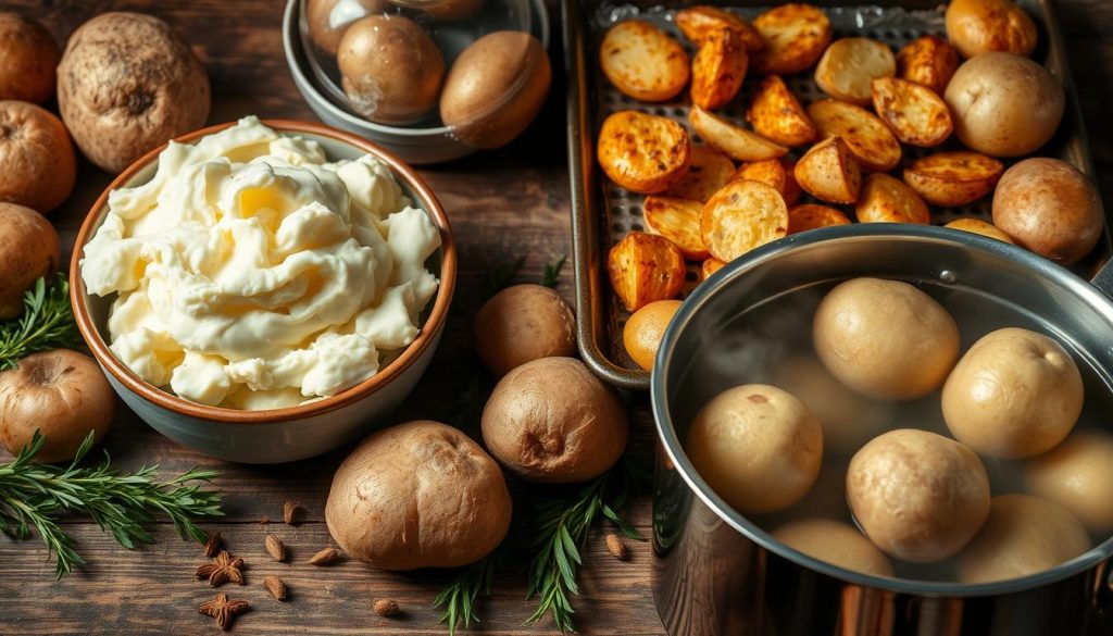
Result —
[{"label": "dark-speckled round roasted half at tray's left side, second from top", "polygon": [[637,110],[608,117],[598,145],[599,165],[607,176],[642,194],[659,193],[679,182],[691,157],[691,141],[683,126]]}]

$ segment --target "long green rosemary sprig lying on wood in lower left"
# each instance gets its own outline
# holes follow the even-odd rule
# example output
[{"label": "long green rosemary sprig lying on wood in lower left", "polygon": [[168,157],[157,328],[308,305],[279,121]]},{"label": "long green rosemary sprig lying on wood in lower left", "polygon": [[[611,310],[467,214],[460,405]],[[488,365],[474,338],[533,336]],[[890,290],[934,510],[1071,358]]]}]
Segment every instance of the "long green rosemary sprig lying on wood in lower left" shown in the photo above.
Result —
[{"label": "long green rosemary sprig lying on wood in lower left", "polygon": [[120,473],[111,469],[107,452],[99,466],[79,467],[92,448],[92,440],[90,432],[68,467],[40,464],[33,460],[46,439],[36,431],[31,443],[14,460],[0,464],[0,531],[16,539],[29,539],[33,526],[47,546],[47,554],[55,555],[58,578],[85,564],[77,551],[77,541],[57,522],[62,513],[89,515],[127,549],[155,541],[149,526],[155,522],[156,513],[169,517],[184,540],[205,541],[205,532],[194,525],[191,517],[223,516],[220,496],[187,482],[211,481],[216,471],[193,469],[157,482],[157,466]]}]

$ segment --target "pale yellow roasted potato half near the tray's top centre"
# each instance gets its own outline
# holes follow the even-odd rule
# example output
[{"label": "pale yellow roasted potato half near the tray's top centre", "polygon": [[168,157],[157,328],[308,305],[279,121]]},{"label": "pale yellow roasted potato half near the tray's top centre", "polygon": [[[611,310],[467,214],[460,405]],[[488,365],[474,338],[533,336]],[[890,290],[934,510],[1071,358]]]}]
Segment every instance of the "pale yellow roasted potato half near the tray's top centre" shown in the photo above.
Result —
[{"label": "pale yellow roasted potato half near the tray's top centre", "polygon": [[896,72],[897,60],[889,47],[869,38],[841,38],[819,58],[816,86],[835,99],[866,106],[869,82]]}]

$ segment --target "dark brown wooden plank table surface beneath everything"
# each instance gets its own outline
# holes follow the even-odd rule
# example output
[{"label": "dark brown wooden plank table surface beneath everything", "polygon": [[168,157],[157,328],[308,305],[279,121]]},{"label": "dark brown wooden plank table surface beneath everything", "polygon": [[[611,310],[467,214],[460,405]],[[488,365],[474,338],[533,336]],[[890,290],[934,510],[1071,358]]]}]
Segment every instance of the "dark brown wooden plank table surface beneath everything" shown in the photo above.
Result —
[{"label": "dark brown wooden plank table surface beneath everything", "polygon": [[[45,22],[60,43],[91,16],[110,9],[148,11],[161,16],[189,39],[213,84],[210,123],[255,114],[313,120],[290,80],[282,51],[278,0],[79,1],[2,0],[0,10],[17,10]],[[1113,110],[1113,2],[1061,0],[1058,12],[1070,62],[1081,94],[1101,189],[1113,205],[1113,147],[1109,112]],[[553,11],[555,13],[555,10]],[[555,25],[559,25],[554,22]],[[550,53],[554,88],[534,126],[510,146],[452,164],[424,168],[422,175],[447,209],[460,245],[457,300],[474,296],[485,273],[525,256],[522,281],[535,281],[544,263],[570,248],[569,194],[564,143],[563,65],[559,29]],[[0,60],[0,63],[3,63]],[[66,257],[85,212],[110,176],[81,160],[77,190],[51,218],[61,231]],[[560,291],[571,299],[571,268]],[[472,290],[472,293],[467,293]],[[465,303],[466,304],[466,303]],[[466,316],[474,306],[454,312],[444,340],[415,394],[394,420],[436,417],[466,385],[475,368]],[[644,395],[630,397],[633,421],[631,451],[652,446],[651,420]],[[246,587],[221,588],[250,601],[254,610],[235,624],[235,634],[444,634],[432,608],[444,573],[390,574],[345,561],[329,568],[305,565],[305,559],[329,542],[323,521],[324,500],[333,471],[347,448],[311,460],[254,467],[208,459],[154,432],[120,405],[105,448],[122,468],[158,463],[164,474],[193,466],[220,471],[216,482],[225,496],[227,516],[206,522],[219,530],[228,549],[244,557]],[[0,451],[2,453],[3,451]],[[301,503],[305,519],[298,526],[280,522],[285,501]],[[626,515],[649,534],[650,506],[642,496]],[[260,525],[262,517],[272,522]],[[200,549],[180,541],[173,527],[159,525],[158,542],[125,550],[91,522],[75,519],[67,529],[80,541],[89,565],[55,580],[41,544],[0,537],[0,634],[215,634],[211,619],[197,606],[213,590],[193,577],[204,561]],[[289,547],[290,564],[275,564],[263,540],[275,534]],[[597,535],[585,556],[583,596],[577,599],[577,620],[588,634],[662,634],[650,591],[652,556],[647,544],[632,544],[632,558],[620,562],[604,550]],[[288,603],[270,599],[262,580],[278,574],[290,588]],[[393,598],[404,609],[396,619],[376,616],[371,603]],[[483,623],[473,633],[553,633],[551,624],[523,627],[533,605],[524,599],[521,577],[501,577],[493,596],[482,604]]]}]

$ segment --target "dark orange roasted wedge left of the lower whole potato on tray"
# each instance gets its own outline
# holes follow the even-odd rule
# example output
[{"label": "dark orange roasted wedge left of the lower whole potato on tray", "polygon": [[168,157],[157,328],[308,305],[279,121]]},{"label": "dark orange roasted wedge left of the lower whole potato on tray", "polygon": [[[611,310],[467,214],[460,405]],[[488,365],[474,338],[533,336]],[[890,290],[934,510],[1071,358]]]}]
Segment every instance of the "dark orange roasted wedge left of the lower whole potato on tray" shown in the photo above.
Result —
[{"label": "dark orange roasted wedge left of the lower whole potato on tray", "polygon": [[932,205],[954,207],[975,202],[993,190],[1005,166],[993,157],[969,151],[936,153],[905,167],[905,183]]}]

